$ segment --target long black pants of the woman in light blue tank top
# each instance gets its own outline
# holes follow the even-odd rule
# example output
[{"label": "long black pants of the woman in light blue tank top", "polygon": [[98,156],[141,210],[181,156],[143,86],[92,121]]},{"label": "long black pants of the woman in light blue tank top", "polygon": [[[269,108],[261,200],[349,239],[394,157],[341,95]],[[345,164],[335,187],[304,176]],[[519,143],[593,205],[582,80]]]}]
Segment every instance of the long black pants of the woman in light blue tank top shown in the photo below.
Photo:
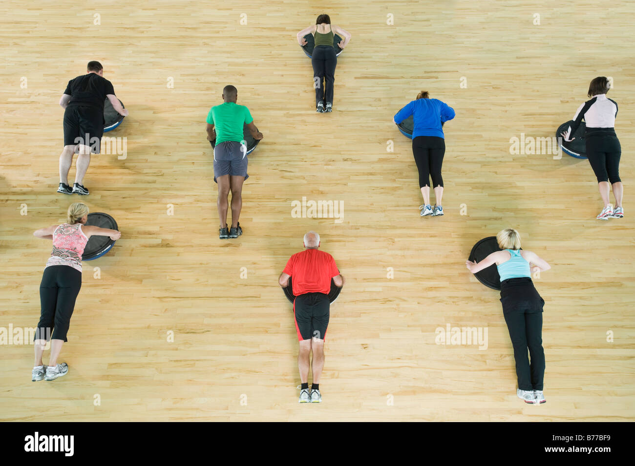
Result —
[{"label": "long black pants of the woman in light blue tank top", "polygon": [[[542,308],[545,302],[528,277],[509,278],[501,282],[500,302],[514,347],[518,388],[528,391],[542,390],[545,375]],[[527,358],[527,349],[531,364]]]}]

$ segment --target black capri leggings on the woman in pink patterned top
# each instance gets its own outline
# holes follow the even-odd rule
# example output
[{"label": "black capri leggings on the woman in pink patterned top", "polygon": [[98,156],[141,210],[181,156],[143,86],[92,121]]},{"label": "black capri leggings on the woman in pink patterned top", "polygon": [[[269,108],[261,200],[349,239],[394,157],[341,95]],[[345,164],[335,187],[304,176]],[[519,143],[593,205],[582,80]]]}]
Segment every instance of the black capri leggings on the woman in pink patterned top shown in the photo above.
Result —
[{"label": "black capri leggings on the woman in pink patterned top", "polygon": [[[40,283],[41,314],[34,340],[64,340],[81,288],[81,272],[70,266],[49,266]],[[51,335],[51,328],[53,335]]]}]

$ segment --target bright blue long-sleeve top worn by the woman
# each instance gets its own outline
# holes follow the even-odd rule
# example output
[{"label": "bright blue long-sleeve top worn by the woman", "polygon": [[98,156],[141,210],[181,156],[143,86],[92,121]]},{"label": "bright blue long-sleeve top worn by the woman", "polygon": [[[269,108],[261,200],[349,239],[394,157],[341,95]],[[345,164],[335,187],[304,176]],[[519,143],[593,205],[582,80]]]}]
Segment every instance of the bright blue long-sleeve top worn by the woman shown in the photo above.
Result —
[{"label": "bright blue long-sleeve top worn by the woman", "polygon": [[417,136],[437,136],[443,138],[441,123],[454,118],[454,110],[438,99],[417,99],[399,110],[394,116],[396,124],[413,116],[412,138]]}]

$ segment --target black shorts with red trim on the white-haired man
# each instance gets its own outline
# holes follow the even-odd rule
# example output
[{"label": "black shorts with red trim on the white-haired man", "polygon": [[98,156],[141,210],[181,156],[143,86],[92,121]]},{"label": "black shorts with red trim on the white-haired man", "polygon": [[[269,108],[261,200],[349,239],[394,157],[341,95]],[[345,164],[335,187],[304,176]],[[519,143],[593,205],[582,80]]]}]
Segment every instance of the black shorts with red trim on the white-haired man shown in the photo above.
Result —
[{"label": "black shorts with red trim on the white-haired man", "polygon": [[331,302],[324,293],[306,293],[295,297],[293,314],[298,340],[324,340]]}]

